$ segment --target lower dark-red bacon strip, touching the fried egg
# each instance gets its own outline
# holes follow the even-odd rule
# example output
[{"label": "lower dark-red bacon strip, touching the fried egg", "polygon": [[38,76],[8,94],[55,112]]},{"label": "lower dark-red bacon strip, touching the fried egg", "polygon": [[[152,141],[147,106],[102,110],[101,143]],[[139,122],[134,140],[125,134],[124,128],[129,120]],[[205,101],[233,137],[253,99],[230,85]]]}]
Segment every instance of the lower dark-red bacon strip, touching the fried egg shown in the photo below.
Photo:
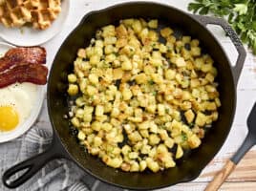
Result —
[{"label": "lower dark-red bacon strip, touching the fried egg", "polygon": [[15,82],[32,82],[44,85],[47,82],[48,69],[40,64],[16,65],[4,73],[0,74],[0,88],[11,85]]}]

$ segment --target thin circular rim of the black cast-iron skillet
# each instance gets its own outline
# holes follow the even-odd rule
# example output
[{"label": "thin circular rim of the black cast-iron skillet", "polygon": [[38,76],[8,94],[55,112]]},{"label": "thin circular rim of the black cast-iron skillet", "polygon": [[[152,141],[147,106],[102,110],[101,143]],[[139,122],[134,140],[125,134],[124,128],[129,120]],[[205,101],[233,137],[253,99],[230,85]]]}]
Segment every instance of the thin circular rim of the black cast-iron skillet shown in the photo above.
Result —
[{"label": "thin circular rim of the black cast-iron skillet", "polygon": [[[126,185],[121,185],[121,184],[117,184],[115,182],[111,182],[109,180],[104,180],[102,179],[101,177],[93,174],[90,170],[88,170],[87,168],[85,168],[77,159],[75,159],[75,157],[69,152],[66,144],[65,144],[65,141],[62,140],[62,138],[59,136],[58,134],[58,131],[56,130],[55,128],[55,125],[53,123],[53,117],[51,115],[51,93],[50,93],[50,86],[52,84],[52,80],[51,78],[52,75],[53,75],[53,66],[56,65],[56,56],[57,54],[60,53],[60,50],[63,48],[65,42],[67,41],[67,39],[72,35],[72,34],[75,34],[75,32],[78,31],[79,27],[85,22],[86,19],[88,19],[90,16],[94,15],[94,14],[99,14],[101,12],[104,12],[104,11],[110,11],[112,9],[117,9],[118,7],[123,7],[123,6],[129,6],[129,5],[143,5],[143,4],[147,4],[147,5],[152,5],[152,6],[161,6],[161,7],[165,7],[165,8],[168,8],[168,9],[172,9],[174,11],[180,11],[182,14],[190,17],[190,19],[194,20],[198,25],[201,25],[203,27],[203,29],[207,32],[209,32],[211,38],[219,45],[221,51],[224,53],[224,56],[227,60],[227,63],[228,63],[228,67],[230,68],[230,72],[232,71],[232,65],[230,64],[230,59],[229,57],[227,56],[227,54],[225,53],[224,51],[224,47],[220,44],[220,42],[217,40],[217,38],[212,34],[212,32],[210,32],[205,25],[203,25],[202,22],[200,22],[198,19],[196,19],[193,15],[194,14],[191,14],[191,13],[188,13],[188,12],[185,12],[185,11],[182,11],[178,8],[175,8],[171,5],[168,5],[168,4],[164,4],[164,3],[161,3],[161,2],[152,2],[152,1],[133,1],[133,2],[123,2],[123,3],[117,3],[113,6],[108,6],[106,8],[103,8],[103,9],[100,9],[100,10],[96,10],[96,11],[89,11],[87,12],[83,17],[82,19],[80,20],[80,22],[75,26],[74,30],[72,32],[70,32],[64,39],[64,41],[62,42],[61,46],[59,47],[57,53],[55,54],[54,56],[54,59],[53,59],[53,64],[52,64],[52,68],[51,68],[51,71],[50,71],[50,74],[49,74],[49,83],[47,85],[47,108],[48,108],[48,114],[49,114],[49,117],[50,117],[50,121],[51,121],[51,124],[53,126],[53,138],[57,138],[58,139],[58,142],[61,144],[61,146],[63,147],[63,149],[65,150],[65,152],[68,154],[68,158],[72,161],[75,162],[75,164],[77,166],[79,166],[83,171],[85,171],[86,173],[90,174],[91,176],[93,176],[94,178],[96,178],[97,180],[101,180],[105,183],[108,183],[110,185],[115,185],[117,187],[120,187],[120,188],[124,188],[124,189],[133,189],[133,190],[154,190],[154,189],[160,189],[160,188],[166,188],[167,186],[173,186],[173,185],[176,185],[178,183],[182,183],[182,182],[188,182],[188,181],[191,181],[191,180],[195,180],[197,179],[200,174],[202,173],[203,169],[206,167],[206,165],[212,160],[215,158],[215,156],[217,155],[217,153],[220,152],[221,148],[224,146],[224,142],[226,141],[227,139],[227,136],[229,135],[230,133],[230,130],[232,128],[232,124],[233,124],[233,121],[234,121],[234,115],[235,115],[235,112],[236,112],[236,105],[237,105],[237,88],[236,88],[236,83],[235,83],[235,80],[234,80],[234,74],[232,74],[232,82],[233,82],[233,87],[231,87],[232,89],[234,89],[234,95],[233,95],[233,110],[232,110],[232,114],[230,114],[230,119],[229,119],[229,127],[226,128],[226,132],[224,134],[224,140],[223,140],[223,143],[222,145],[220,145],[217,150],[215,152],[212,153],[212,158],[209,159],[208,161],[205,161],[203,162],[203,164],[200,165],[200,168],[198,168],[198,171],[197,173],[194,173],[193,175],[188,175],[187,177],[185,177],[184,179],[182,180],[179,180],[175,183],[168,183],[168,184],[162,184],[160,186],[155,186],[155,187],[131,187],[131,186],[126,186]],[[238,78],[239,79],[239,78]]]}]

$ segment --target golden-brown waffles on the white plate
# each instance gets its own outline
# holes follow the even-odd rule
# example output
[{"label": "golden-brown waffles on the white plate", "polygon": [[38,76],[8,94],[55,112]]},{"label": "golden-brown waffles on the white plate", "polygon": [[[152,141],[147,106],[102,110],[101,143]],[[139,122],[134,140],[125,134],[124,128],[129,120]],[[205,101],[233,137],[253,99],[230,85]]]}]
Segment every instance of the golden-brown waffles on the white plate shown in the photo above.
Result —
[{"label": "golden-brown waffles on the white plate", "polygon": [[61,11],[60,0],[0,0],[0,23],[7,28],[32,24],[45,30]]}]

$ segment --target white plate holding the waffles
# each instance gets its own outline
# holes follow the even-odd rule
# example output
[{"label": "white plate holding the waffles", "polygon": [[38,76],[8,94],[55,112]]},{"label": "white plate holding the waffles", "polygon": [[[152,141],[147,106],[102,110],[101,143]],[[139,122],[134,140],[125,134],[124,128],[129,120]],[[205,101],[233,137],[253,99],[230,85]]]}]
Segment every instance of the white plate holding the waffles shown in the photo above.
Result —
[{"label": "white plate holding the waffles", "polygon": [[70,0],[62,0],[61,12],[50,28],[44,31],[34,30],[29,27],[5,28],[0,24],[0,37],[16,46],[36,46],[52,39],[58,32],[61,31],[68,17],[70,9]]}]

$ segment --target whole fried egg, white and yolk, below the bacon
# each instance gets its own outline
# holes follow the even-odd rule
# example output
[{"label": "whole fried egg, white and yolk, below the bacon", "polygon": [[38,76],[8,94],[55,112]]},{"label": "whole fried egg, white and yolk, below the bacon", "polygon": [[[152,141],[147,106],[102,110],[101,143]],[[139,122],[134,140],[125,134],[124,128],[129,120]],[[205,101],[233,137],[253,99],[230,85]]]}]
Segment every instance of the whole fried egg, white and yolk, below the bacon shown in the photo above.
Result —
[{"label": "whole fried egg, white and yolk, below the bacon", "polygon": [[0,89],[0,131],[8,132],[30,117],[37,87],[32,83],[15,83]]}]

